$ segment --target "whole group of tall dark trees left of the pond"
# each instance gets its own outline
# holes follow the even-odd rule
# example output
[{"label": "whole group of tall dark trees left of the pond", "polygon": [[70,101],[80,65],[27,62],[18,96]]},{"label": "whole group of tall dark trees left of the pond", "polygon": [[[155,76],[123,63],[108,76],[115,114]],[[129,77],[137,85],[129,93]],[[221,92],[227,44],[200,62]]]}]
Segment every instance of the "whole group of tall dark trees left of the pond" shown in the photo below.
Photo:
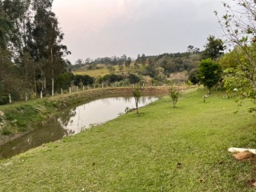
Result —
[{"label": "whole group of tall dark trees left of the pond", "polygon": [[[0,1],[0,58],[2,65],[15,69],[5,70],[5,74],[12,76],[10,79],[19,78],[26,92],[49,93],[54,90],[54,79],[66,71],[64,57],[70,51],[62,45],[64,34],[52,11],[52,2]],[[5,85],[6,75],[0,77],[0,86],[2,92],[10,93]]]}]

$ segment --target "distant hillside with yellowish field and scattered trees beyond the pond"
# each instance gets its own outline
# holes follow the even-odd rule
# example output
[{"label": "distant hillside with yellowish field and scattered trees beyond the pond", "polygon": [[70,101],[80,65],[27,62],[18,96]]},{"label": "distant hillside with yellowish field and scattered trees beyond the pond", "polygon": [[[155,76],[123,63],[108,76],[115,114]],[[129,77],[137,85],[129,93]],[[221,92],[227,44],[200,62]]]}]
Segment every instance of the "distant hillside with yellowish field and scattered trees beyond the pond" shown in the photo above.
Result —
[{"label": "distant hillside with yellowish field and scattered trees beyond the pond", "polygon": [[[201,58],[201,52],[198,48],[190,47],[190,49],[191,50],[186,53],[161,54],[158,56],[146,56],[145,54],[142,54],[142,57],[138,55],[138,58],[134,63],[130,63],[132,62],[131,58],[126,58],[126,55],[122,55],[121,58],[116,56],[111,58],[97,58],[94,61],[89,60],[86,64],[82,59],[79,59],[77,64],[71,68],[76,70],[75,74],[89,74],[90,76],[97,78],[96,81],[99,83],[111,82],[108,81],[108,79],[103,80],[102,75],[122,73],[122,77],[128,78],[130,83],[137,83],[139,81],[138,78],[132,80],[134,77],[129,75],[135,74],[138,75],[140,81],[143,81],[144,78],[146,82],[150,82],[153,78],[162,84],[166,83],[166,78],[170,77],[170,74],[176,74],[179,72],[184,72],[184,74],[186,74],[186,71],[193,70],[198,66],[198,62]],[[142,61],[144,61],[144,64],[142,64]],[[96,65],[96,63],[98,64]],[[130,65],[128,65],[129,63]],[[116,65],[125,65],[126,68],[122,68],[122,71],[119,71],[118,66]],[[101,66],[102,70],[97,70],[99,66]],[[81,68],[79,69],[79,67]],[[171,81],[175,80],[172,79]],[[182,81],[186,82],[186,77],[184,80],[182,79]]]}]

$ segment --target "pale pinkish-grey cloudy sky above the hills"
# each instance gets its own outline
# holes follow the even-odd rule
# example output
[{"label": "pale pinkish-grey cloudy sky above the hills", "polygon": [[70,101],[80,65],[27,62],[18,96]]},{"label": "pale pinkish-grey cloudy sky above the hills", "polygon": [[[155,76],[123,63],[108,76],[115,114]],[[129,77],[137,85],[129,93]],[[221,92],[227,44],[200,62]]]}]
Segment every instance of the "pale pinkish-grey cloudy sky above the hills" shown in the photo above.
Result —
[{"label": "pale pinkish-grey cloudy sky above the hills", "polygon": [[[230,2],[232,0],[226,0]],[[214,10],[218,0],[54,0],[53,11],[65,34],[66,57],[103,58],[203,50],[207,37],[222,38]]]}]

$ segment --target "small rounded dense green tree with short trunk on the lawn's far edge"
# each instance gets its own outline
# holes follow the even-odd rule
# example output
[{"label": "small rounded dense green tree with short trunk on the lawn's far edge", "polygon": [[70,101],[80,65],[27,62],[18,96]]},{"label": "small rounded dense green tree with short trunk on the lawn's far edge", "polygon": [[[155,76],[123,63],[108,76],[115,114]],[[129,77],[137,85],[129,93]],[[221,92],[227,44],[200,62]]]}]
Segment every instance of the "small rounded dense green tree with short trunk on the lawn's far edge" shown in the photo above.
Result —
[{"label": "small rounded dense green tree with short trunk on the lawn's far edge", "polygon": [[216,86],[221,80],[222,69],[218,63],[213,62],[210,58],[202,60],[198,66],[198,79],[203,86],[206,86],[208,93],[210,89]]}]

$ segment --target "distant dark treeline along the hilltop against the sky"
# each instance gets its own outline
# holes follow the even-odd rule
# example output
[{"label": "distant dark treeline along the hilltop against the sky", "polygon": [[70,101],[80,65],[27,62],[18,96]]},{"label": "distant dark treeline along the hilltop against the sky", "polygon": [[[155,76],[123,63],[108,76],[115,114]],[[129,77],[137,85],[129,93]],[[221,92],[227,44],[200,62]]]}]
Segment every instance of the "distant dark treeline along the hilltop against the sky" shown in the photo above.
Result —
[{"label": "distant dark treeline along the hilltop against the sky", "polygon": [[[198,66],[198,62],[202,58],[202,52],[198,48],[192,48],[191,50],[189,47],[188,51],[184,53],[159,54],[156,56],[138,54],[138,57],[133,60],[130,57],[127,57],[126,54],[122,55],[122,57],[113,56],[110,58],[105,57],[94,60],[90,58],[86,58],[86,60],[78,59],[74,65],[70,66],[70,70],[95,70],[100,68],[98,64],[118,66],[119,70],[123,70],[124,68],[130,68],[131,63],[134,63],[135,73],[149,75],[151,78],[154,78],[159,73],[168,76],[172,73],[190,71]],[[142,68],[140,66],[144,69],[138,70],[139,68]]]}]

